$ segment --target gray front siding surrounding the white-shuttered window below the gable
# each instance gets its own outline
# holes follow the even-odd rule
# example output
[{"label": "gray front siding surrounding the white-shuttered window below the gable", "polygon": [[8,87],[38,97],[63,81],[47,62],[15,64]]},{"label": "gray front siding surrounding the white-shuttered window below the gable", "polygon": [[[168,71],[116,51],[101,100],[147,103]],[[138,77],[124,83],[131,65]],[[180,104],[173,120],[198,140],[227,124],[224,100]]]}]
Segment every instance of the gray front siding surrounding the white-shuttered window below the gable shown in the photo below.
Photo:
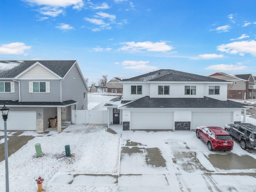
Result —
[{"label": "gray front siding surrounding the white-shuttered window below the gable", "polygon": [[36,80],[50,82],[50,93],[30,93],[30,81],[33,80],[20,80],[21,102],[60,102],[60,80]]}]

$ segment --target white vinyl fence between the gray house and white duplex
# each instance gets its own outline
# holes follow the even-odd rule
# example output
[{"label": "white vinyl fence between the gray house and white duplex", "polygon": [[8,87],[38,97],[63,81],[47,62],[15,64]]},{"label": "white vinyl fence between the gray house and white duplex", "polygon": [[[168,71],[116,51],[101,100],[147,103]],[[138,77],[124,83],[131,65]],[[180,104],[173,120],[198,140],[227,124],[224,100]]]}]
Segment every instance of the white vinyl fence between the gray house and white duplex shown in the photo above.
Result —
[{"label": "white vinyl fence between the gray house and white duplex", "polygon": [[74,124],[107,124],[107,110],[72,110]]}]

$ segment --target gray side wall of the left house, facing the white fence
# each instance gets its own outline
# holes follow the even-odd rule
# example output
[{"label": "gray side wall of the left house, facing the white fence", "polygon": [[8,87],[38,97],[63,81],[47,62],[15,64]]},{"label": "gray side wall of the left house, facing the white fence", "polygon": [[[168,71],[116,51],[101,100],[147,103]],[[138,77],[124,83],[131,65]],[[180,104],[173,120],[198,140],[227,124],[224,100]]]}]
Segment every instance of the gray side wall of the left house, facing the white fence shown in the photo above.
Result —
[{"label": "gray side wall of the left house, facing the white fence", "polygon": [[88,96],[84,99],[84,92],[87,92],[86,86],[80,76],[77,66],[74,65],[62,81],[62,101],[74,100],[78,102],[78,110],[82,109],[82,105],[84,106],[84,109],[87,109]]}]

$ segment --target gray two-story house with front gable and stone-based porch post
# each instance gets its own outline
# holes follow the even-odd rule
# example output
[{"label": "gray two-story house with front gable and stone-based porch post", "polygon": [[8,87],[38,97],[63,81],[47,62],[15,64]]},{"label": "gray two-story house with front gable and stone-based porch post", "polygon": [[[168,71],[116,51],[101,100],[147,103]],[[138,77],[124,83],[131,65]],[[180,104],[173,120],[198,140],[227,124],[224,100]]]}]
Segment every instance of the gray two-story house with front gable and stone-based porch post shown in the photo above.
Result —
[{"label": "gray two-story house with front gable and stone-based porch post", "polygon": [[55,119],[60,132],[74,110],[87,109],[87,92],[76,60],[0,61],[0,108],[10,108],[8,130],[43,131]]}]

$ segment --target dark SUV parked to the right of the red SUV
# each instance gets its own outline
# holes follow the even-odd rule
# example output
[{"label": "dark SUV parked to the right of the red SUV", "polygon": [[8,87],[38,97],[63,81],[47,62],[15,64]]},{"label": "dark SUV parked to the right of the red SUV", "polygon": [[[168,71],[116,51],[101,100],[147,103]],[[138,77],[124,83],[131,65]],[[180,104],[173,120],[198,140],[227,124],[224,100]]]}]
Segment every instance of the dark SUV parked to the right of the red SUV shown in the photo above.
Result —
[{"label": "dark SUV parked to the right of the red SUV", "polygon": [[256,126],[250,123],[225,125],[225,130],[240,142],[242,149],[256,149]]}]

